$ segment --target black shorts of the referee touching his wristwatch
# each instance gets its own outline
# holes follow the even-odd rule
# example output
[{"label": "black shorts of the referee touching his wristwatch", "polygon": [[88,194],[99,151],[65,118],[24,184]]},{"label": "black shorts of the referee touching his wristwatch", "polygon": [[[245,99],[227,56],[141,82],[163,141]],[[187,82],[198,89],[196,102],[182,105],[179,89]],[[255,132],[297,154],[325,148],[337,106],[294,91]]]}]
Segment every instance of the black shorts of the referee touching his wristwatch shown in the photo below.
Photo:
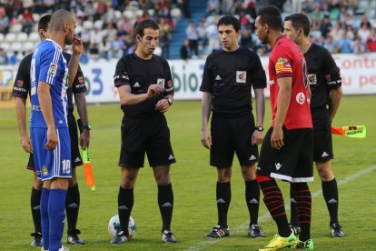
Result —
[{"label": "black shorts of the referee touching his wristwatch", "polygon": [[145,153],[150,166],[176,162],[170,142],[170,129],[164,115],[150,118],[124,117],[119,166],[143,167]]}]

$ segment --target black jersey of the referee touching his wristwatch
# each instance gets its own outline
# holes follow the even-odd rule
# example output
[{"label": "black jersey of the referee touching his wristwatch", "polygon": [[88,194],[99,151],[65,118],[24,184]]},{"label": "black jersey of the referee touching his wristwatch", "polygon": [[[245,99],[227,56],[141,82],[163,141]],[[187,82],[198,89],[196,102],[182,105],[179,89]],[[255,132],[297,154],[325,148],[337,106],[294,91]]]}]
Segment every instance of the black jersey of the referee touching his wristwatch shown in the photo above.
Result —
[{"label": "black jersey of the referee touching his wristwatch", "polygon": [[165,95],[173,95],[173,77],[170,66],[161,56],[152,55],[144,60],[135,53],[124,55],[119,59],[114,73],[114,86],[130,85],[133,95],[147,93],[149,85],[163,85],[164,92],[136,105],[122,105],[126,117],[152,117],[163,115],[154,109],[156,103]]}]

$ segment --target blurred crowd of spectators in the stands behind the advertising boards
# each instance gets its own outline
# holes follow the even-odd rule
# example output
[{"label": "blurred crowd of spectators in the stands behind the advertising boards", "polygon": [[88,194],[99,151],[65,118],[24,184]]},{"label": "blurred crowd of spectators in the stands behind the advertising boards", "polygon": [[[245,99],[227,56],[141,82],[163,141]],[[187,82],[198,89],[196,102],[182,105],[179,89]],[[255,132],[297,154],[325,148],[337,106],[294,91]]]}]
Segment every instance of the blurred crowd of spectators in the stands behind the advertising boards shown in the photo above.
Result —
[{"label": "blurred crowd of spectators in the stands behind the advertising boards", "polygon": [[218,49],[221,15],[237,16],[240,44],[267,55],[270,48],[254,34],[257,10],[265,5],[278,6],[283,16],[308,15],[312,41],[331,53],[376,51],[376,0],[0,0],[0,65],[16,65],[32,52],[39,43],[39,18],[61,8],[77,16],[82,64],[132,53],[134,24],[144,18],[160,24],[155,54],[167,59],[205,58]]}]

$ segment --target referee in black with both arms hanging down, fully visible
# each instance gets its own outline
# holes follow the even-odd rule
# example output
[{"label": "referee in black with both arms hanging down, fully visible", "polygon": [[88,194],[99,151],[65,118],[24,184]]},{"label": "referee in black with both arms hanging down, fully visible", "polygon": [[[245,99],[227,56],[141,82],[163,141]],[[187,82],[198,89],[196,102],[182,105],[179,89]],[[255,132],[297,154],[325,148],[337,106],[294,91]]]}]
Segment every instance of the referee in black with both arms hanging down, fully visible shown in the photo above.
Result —
[{"label": "referee in black with both arms hanging down, fully visible", "polygon": [[[231,202],[230,180],[233,154],[238,156],[245,182],[245,200],[250,214],[248,235],[263,237],[258,226],[260,188],[255,177],[258,145],[263,139],[266,76],[260,57],[238,45],[241,24],[223,16],[217,24],[222,50],[206,59],[202,100],[202,143],[210,149],[210,165],[217,168],[216,202],[218,224],[207,238],[230,236],[227,212]],[[256,125],[252,115],[252,88],[256,98]],[[213,111],[212,124],[209,118]]]}]

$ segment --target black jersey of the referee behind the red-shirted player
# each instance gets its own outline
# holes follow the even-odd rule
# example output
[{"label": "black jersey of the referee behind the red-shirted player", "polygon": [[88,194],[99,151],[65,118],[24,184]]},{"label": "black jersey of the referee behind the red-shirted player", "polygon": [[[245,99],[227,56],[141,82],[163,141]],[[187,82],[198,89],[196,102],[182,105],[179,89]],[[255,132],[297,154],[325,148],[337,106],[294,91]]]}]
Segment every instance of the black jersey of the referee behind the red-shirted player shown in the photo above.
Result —
[{"label": "black jersey of the referee behind the red-shirted player", "polygon": [[311,108],[325,107],[330,104],[331,89],[342,84],[340,68],[330,52],[320,45],[312,43],[304,56],[312,92]]}]

